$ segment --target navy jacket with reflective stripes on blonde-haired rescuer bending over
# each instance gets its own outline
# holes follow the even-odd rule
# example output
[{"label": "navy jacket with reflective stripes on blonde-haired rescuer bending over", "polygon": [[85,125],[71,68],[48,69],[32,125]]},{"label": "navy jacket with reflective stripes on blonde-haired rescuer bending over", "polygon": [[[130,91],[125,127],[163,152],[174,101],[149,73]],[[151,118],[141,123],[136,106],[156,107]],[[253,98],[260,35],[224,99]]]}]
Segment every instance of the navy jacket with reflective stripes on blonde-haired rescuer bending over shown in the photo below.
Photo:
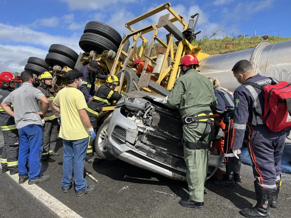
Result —
[{"label": "navy jacket with reflective stripes on blonde-haired rescuer bending over", "polygon": [[222,88],[215,88],[214,95],[217,100],[217,106],[213,110],[216,114],[222,114],[227,111],[228,108],[234,108],[233,94],[231,91]]}]

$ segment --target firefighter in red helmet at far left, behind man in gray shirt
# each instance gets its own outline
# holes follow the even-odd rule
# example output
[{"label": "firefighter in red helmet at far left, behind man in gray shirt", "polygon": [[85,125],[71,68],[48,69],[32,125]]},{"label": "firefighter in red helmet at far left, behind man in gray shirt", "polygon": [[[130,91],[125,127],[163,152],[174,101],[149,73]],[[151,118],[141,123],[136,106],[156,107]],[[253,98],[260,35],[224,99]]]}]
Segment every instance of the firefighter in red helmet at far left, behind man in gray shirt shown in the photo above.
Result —
[{"label": "firefighter in red helmet at far left, behind man in gray shirt", "polygon": [[[0,74],[0,104],[15,88],[18,78],[10,72]],[[13,105],[11,105],[13,110]],[[10,175],[18,173],[19,135],[14,118],[0,107],[0,126],[4,136],[4,146],[1,155],[2,173],[10,171]]]}]

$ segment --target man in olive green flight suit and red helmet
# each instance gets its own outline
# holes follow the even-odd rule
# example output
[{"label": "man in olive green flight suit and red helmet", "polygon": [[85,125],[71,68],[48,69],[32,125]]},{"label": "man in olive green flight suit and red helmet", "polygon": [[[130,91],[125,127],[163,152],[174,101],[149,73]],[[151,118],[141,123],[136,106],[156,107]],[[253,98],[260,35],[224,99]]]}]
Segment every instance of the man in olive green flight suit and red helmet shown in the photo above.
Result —
[{"label": "man in olive green flight suit and red helmet", "polygon": [[181,199],[179,203],[185,207],[204,209],[208,148],[214,131],[211,109],[216,107],[217,102],[213,84],[195,70],[199,62],[194,54],[185,55],[179,66],[181,76],[176,80],[167,100],[170,108],[179,108],[184,123],[184,159],[190,196]]}]

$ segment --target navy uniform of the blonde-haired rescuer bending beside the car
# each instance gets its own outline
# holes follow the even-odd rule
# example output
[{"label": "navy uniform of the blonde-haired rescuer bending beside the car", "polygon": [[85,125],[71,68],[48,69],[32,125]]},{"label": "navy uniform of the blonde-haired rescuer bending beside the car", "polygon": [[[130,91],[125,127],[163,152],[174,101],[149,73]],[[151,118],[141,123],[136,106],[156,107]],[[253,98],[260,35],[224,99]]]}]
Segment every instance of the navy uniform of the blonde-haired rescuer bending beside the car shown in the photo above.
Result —
[{"label": "navy uniform of the blonde-haired rescuer bending beside the car", "polygon": [[217,106],[214,109],[214,113],[220,114],[223,123],[225,124],[224,130],[224,146],[223,153],[228,162],[237,162],[234,154],[232,153],[232,123],[233,120],[228,116],[228,108],[234,108],[233,94],[231,91],[222,88],[215,88],[214,94],[217,100]]}]

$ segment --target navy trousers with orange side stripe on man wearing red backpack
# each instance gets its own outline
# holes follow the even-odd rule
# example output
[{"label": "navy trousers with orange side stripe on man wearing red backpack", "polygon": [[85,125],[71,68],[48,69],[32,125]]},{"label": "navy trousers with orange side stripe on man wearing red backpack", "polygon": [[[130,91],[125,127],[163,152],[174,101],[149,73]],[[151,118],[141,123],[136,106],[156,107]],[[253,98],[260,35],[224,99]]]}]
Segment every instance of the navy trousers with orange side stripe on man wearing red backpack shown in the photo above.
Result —
[{"label": "navy trousers with orange side stripe on man wearing red backpack", "polygon": [[253,174],[261,187],[276,190],[280,180],[281,156],[286,131],[271,132],[265,125],[247,124],[248,150],[253,162]]}]

